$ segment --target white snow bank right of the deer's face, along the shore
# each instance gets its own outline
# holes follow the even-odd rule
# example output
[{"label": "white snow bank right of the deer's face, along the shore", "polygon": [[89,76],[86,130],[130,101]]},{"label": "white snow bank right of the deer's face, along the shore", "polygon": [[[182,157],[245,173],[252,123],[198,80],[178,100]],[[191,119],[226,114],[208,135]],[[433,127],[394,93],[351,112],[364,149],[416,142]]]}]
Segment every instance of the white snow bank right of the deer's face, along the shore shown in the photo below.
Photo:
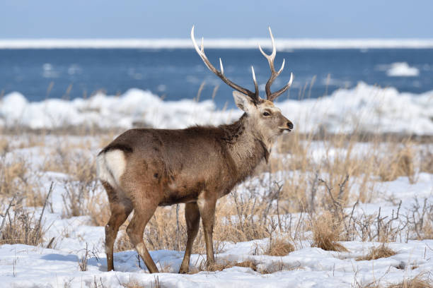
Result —
[{"label": "white snow bank right of the deer's face, along the shore", "polygon": [[[359,83],[329,97],[278,104],[301,131],[415,133],[433,135],[433,91],[398,92]],[[296,128],[296,126],[295,126]]]}]

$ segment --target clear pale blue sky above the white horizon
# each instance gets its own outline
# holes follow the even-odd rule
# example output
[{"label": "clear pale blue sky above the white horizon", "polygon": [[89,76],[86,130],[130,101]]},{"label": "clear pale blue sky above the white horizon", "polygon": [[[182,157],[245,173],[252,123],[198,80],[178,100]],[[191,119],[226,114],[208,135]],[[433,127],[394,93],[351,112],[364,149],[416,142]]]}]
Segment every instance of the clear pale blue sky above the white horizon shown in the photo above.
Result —
[{"label": "clear pale blue sky above the white horizon", "polygon": [[1,0],[0,39],[433,38],[432,0]]}]

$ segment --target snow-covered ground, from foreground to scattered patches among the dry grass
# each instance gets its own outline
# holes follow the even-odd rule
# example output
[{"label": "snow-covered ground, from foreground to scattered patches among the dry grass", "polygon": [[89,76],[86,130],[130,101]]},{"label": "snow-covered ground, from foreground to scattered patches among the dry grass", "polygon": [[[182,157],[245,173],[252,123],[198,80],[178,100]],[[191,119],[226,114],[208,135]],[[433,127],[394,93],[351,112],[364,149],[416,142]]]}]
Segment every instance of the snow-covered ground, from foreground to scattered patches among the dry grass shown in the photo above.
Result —
[{"label": "snow-covered ground, from foreground to scattered patches among the dry grass", "polygon": [[[141,92],[143,93],[143,92]],[[112,100],[115,101],[115,100]],[[56,139],[47,136],[45,145],[55,146]],[[68,141],[79,143],[88,138],[73,137]],[[96,142],[93,139],[93,142]],[[318,159],[325,151],[321,150],[321,143],[314,150],[318,151]],[[360,144],[366,145],[366,144]],[[368,148],[368,147],[365,147]],[[43,149],[42,149],[43,150]],[[97,145],[86,151],[95,155]],[[361,149],[359,149],[361,150]],[[335,151],[334,151],[335,152]],[[326,153],[332,154],[331,151]],[[25,157],[31,167],[35,169],[43,162],[41,148],[22,148],[8,152],[6,160],[14,157]],[[280,157],[280,155],[275,155]],[[277,179],[293,172],[280,172]],[[42,188],[50,186],[50,182],[62,183],[65,177],[62,173],[45,172],[39,174],[38,181]],[[251,179],[250,181],[255,181]],[[246,186],[240,186],[238,193],[242,193]],[[419,173],[417,181],[411,184],[407,177],[400,177],[394,181],[380,182],[376,185],[379,197],[371,203],[357,206],[354,214],[376,215],[381,208],[381,216],[391,217],[398,208],[396,203],[387,199],[402,200],[401,215],[410,212],[415,197],[427,198],[433,201],[433,174]],[[103,193],[98,187],[98,193]],[[257,247],[267,245],[269,239],[258,239],[248,242],[226,242],[217,262],[242,262],[250,260],[258,266],[258,270],[268,270],[271,273],[261,274],[250,268],[233,267],[218,272],[198,272],[192,275],[179,275],[183,258],[182,251],[151,251],[151,256],[158,263],[158,268],[165,272],[151,275],[143,268],[143,263],[137,260],[135,251],[115,253],[116,271],[106,272],[107,264],[104,253],[104,228],[88,226],[88,217],[62,218],[64,187],[54,185],[51,196],[52,207],[45,211],[44,223],[47,231],[43,246],[25,246],[21,244],[0,246],[0,287],[125,287],[124,284],[136,281],[151,287],[159,282],[161,287],[363,287],[371,282],[381,284],[398,283],[422,272],[433,270],[433,239],[422,241],[409,240],[405,235],[397,242],[388,246],[396,251],[396,255],[377,260],[356,260],[364,256],[371,247],[378,247],[380,243],[345,241],[341,242],[348,252],[324,251],[311,247],[310,239],[295,241],[296,250],[287,256],[258,255]],[[33,209],[33,208],[32,208]],[[35,208],[37,217],[41,208]],[[293,215],[299,217],[299,215]],[[374,216],[376,217],[376,216]],[[59,237],[62,235],[62,237]],[[58,238],[54,248],[47,246],[52,237]],[[307,237],[308,238],[308,237]],[[79,269],[79,259],[85,253],[85,248],[91,252],[88,259],[87,271]],[[190,268],[200,265],[205,256],[194,254],[190,261]],[[281,268],[281,269],[280,269]],[[275,271],[276,272],[272,272]],[[431,276],[430,276],[431,277]]]}]

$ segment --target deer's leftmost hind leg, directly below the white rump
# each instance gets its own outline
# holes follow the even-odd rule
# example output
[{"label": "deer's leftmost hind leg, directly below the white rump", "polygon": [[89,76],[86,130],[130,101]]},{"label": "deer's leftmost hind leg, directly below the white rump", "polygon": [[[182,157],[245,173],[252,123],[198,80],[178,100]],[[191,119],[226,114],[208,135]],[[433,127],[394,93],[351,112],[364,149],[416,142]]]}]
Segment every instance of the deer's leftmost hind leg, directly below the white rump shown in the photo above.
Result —
[{"label": "deer's leftmost hind leg, directly below the white rump", "polygon": [[113,246],[116,240],[120,225],[127,220],[132,211],[132,203],[127,199],[120,199],[110,184],[103,181],[103,186],[110,201],[111,216],[108,224],[105,225],[105,253],[107,254],[107,270],[114,270]]}]

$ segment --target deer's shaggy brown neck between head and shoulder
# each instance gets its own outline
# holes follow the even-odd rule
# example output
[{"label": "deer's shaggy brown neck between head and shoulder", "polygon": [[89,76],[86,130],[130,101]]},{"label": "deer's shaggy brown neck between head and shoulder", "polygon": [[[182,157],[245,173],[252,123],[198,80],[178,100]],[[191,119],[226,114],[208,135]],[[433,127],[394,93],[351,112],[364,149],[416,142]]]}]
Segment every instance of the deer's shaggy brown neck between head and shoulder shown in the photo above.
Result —
[{"label": "deer's shaggy brown neck between head and shoulder", "polygon": [[256,133],[246,114],[221,128],[225,131],[226,147],[240,179],[250,176],[263,159],[269,160],[272,143]]}]

